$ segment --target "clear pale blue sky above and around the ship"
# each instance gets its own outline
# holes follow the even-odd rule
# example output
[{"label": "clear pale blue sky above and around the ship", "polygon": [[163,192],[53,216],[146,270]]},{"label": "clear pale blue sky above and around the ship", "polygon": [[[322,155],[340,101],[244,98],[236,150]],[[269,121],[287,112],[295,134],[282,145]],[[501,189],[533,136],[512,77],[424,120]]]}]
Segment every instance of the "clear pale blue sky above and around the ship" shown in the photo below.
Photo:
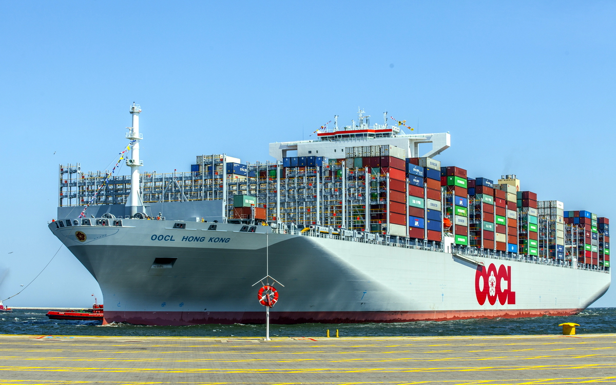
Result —
[{"label": "clear pale blue sky above and around the ship", "polygon": [[[0,296],[60,241],[59,163],[103,170],[142,106],[144,171],[265,161],[358,107],[452,134],[444,165],[616,220],[616,2],[2,2]],[[9,254],[10,253],[10,254]],[[88,306],[63,248],[12,306]],[[0,298],[0,299],[1,299]],[[610,290],[595,306],[616,306]]]}]

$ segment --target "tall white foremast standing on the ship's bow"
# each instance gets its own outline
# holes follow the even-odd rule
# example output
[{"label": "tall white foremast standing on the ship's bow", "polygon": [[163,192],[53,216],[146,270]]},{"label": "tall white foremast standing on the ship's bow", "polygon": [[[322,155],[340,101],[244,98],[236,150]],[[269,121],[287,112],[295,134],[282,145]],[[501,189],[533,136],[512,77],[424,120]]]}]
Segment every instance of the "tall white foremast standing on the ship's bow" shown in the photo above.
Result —
[{"label": "tall white foremast standing on the ship's bow", "polygon": [[132,127],[127,127],[126,139],[134,140],[134,142],[131,147],[131,159],[126,160],[126,166],[131,168],[131,193],[126,200],[126,212],[132,218],[135,214],[141,213],[144,206],[139,192],[139,168],[144,165],[144,161],[139,160],[139,140],[144,139],[144,136],[139,134],[140,105],[133,102],[129,112],[132,115]]}]

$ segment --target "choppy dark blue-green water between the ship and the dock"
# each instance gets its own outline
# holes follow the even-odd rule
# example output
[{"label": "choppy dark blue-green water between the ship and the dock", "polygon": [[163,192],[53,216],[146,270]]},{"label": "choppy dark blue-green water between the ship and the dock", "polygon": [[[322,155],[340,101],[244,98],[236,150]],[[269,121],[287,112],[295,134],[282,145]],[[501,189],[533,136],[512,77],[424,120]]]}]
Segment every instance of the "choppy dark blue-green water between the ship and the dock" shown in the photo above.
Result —
[{"label": "choppy dark blue-green water between the ship and the dock", "polygon": [[[49,320],[46,310],[14,310],[0,314],[0,334],[47,334],[90,336],[263,336],[264,325],[143,326],[100,325],[97,321]],[[569,317],[495,318],[408,323],[303,323],[270,325],[272,336],[468,336],[503,334],[559,334],[559,323],[575,322],[578,333],[616,333],[616,308],[586,309]]]}]

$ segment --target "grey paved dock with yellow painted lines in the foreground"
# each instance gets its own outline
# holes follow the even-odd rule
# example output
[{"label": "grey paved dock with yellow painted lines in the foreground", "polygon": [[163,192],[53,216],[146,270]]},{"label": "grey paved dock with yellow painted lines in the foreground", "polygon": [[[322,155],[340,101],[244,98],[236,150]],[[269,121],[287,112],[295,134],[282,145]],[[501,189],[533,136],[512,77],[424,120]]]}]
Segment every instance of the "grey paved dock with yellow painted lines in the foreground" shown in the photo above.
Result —
[{"label": "grey paved dock with yellow painted lines in the foreground", "polygon": [[386,338],[0,335],[0,384],[616,383],[616,334]]}]

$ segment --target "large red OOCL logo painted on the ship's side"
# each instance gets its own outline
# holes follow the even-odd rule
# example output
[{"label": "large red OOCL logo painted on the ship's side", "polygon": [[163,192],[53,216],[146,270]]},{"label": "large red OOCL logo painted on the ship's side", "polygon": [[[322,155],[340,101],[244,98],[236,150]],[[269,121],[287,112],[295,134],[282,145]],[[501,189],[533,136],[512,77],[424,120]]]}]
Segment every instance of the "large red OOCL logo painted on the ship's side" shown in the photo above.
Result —
[{"label": "large red OOCL logo painted on the ship's side", "polygon": [[494,264],[488,269],[485,266],[477,266],[475,273],[475,294],[480,305],[485,304],[485,299],[490,305],[516,304],[516,292],[511,290],[511,266],[500,265],[498,270]]}]

